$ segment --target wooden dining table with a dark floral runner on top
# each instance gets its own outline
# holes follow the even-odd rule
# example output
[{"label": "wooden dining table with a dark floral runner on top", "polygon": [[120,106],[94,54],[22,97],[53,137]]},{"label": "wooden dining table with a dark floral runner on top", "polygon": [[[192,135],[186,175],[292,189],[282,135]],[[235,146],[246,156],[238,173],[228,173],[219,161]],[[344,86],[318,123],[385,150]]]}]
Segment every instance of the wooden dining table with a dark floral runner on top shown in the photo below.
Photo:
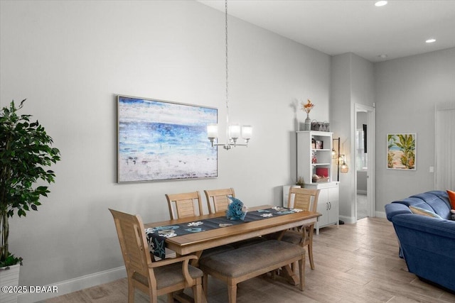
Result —
[{"label": "wooden dining table with a dark floral runner on top", "polygon": [[[249,211],[270,209],[272,207],[274,206],[254,206],[250,207]],[[173,226],[175,224],[185,224],[188,222],[213,219],[221,216],[225,216],[225,214],[218,213],[205,214],[202,216],[188,216],[181,219],[148,223],[144,224],[144,227],[154,228],[159,226]],[[242,224],[235,224],[223,228],[215,228],[207,231],[200,231],[197,233],[188,233],[181,236],[174,236],[171,238],[166,238],[165,243],[166,248],[175,251],[177,255],[193,254],[197,255],[199,259],[200,255],[203,253],[203,250],[235,243],[237,241],[255,238],[257,236],[264,236],[270,233],[274,233],[277,239],[281,239],[287,229],[316,223],[319,216],[321,216],[321,214],[315,211],[299,211],[292,214],[272,216],[266,219],[248,221]],[[191,265],[198,266],[198,259],[192,260]],[[284,278],[286,278],[291,285],[297,285],[299,283],[298,277],[294,275],[294,272],[292,272],[289,265],[283,268],[282,273],[284,275]],[[188,298],[188,296],[181,293],[174,294],[174,297],[179,302],[191,302],[191,298]],[[205,299],[203,301],[205,301]]]}]

